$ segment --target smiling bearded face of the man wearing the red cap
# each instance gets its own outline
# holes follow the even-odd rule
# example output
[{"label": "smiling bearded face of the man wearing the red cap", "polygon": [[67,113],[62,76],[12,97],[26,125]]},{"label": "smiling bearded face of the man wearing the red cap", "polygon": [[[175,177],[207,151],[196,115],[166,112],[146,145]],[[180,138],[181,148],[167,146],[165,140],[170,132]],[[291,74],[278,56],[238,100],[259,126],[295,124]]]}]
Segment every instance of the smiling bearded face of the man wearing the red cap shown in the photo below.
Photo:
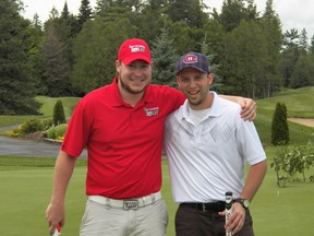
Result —
[{"label": "smiling bearded face of the man wearing the red cap", "polygon": [[128,66],[117,60],[116,69],[120,88],[129,94],[143,94],[152,81],[152,64],[143,60],[132,61]]}]

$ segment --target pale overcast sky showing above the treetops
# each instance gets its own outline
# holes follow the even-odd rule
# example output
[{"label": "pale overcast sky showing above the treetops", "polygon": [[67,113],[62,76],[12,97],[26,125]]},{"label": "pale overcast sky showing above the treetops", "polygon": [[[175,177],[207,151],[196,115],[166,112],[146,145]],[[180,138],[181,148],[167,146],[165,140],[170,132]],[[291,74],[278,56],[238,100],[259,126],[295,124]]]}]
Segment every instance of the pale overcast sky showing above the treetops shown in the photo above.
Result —
[{"label": "pale overcast sky showing above the treetops", "polygon": [[[49,12],[55,7],[59,13],[62,11],[65,0],[22,0],[25,5],[24,16],[33,20],[35,13],[39,15],[41,22],[49,17]],[[67,0],[69,11],[77,14],[81,0]],[[89,0],[94,8],[96,0]],[[204,0],[209,7],[221,10],[224,0]],[[264,12],[266,0],[255,0],[257,10]],[[314,1],[313,0],[274,0],[274,9],[278,13],[282,23],[282,30],[297,28],[300,33],[303,28],[307,32],[307,37],[314,35]]]}]

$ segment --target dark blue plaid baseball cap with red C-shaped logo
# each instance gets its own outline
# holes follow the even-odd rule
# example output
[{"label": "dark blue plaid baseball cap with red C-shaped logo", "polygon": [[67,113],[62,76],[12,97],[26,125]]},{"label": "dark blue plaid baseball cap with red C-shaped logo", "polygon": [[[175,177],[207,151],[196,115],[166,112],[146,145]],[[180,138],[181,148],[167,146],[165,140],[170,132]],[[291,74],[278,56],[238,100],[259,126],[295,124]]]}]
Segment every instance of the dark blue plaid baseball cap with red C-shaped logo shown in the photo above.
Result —
[{"label": "dark blue plaid baseball cap with red C-shaped logo", "polygon": [[202,73],[210,73],[209,62],[207,57],[198,52],[189,52],[180,57],[177,62],[177,74],[184,68],[195,68]]}]

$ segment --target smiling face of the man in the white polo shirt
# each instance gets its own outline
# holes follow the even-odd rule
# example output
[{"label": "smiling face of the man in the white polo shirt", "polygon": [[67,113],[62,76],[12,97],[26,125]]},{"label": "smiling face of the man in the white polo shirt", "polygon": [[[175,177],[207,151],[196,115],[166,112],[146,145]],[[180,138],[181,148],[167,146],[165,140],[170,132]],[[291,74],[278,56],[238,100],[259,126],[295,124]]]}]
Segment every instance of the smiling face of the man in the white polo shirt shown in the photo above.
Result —
[{"label": "smiling face of the man in the white polo shirt", "polygon": [[184,68],[179,72],[177,82],[189,101],[192,109],[209,108],[213,96],[208,93],[213,83],[213,75],[202,73],[194,68]]}]

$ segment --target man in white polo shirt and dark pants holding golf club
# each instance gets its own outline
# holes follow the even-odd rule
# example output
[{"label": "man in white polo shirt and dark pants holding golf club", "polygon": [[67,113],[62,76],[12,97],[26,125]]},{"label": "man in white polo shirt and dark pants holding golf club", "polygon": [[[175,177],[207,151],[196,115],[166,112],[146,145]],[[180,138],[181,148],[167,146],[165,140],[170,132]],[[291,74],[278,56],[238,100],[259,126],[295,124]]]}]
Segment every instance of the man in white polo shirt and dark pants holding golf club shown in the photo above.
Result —
[{"label": "man in white polo shirt and dark pants holding golf club", "polygon": [[[241,119],[238,104],[209,92],[213,74],[204,55],[182,56],[177,82],[188,99],[168,116],[165,127],[172,194],[180,203],[177,236],[218,236],[226,231],[252,236],[249,203],[267,169],[254,123]],[[227,191],[233,193],[234,203],[226,223]]]}]

